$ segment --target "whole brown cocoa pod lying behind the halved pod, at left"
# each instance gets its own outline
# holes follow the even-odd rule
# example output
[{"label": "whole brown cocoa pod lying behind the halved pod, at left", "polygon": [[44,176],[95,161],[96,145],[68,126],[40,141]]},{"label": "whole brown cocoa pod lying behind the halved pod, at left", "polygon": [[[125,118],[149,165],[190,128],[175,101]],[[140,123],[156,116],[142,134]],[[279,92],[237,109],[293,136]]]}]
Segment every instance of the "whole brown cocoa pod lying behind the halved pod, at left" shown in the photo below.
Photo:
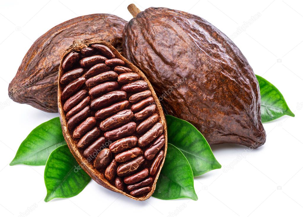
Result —
[{"label": "whole brown cocoa pod lying behind the halved pod, at left", "polygon": [[104,40],[122,51],[122,31],[126,23],[115,15],[92,14],[73,18],[50,29],[25,54],[8,86],[9,97],[46,112],[58,112],[61,55],[74,40]]}]

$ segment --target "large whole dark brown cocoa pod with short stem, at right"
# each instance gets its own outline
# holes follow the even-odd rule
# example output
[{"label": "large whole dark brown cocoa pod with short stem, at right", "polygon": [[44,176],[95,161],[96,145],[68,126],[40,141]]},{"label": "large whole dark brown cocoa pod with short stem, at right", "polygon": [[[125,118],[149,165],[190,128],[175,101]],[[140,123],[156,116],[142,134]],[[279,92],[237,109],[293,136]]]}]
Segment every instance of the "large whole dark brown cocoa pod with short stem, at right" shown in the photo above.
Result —
[{"label": "large whole dark brown cocoa pod with short stem, at right", "polygon": [[193,124],[210,144],[265,143],[258,81],[226,35],[187,12],[128,9],[134,18],[124,28],[123,53],[148,77],[168,114]]}]

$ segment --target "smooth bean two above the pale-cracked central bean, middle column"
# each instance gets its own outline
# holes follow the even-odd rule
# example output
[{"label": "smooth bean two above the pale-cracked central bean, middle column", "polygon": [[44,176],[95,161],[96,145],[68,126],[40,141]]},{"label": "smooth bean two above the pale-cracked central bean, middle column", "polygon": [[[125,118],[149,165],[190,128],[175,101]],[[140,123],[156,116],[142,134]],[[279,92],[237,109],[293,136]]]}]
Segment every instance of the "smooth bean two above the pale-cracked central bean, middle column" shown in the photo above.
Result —
[{"label": "smooth bean two above the pale-cracked central bean, middle column", "polygon": [[108,106],[117,101],[125,100],[126,97],[127,97],[127,94],[125,91],[115,90],[115,91],[109,92],[108,94],[104,94],[103,96],[101,96],[99,98],[92,100],[91,108],[100,109],[102,107]]}]

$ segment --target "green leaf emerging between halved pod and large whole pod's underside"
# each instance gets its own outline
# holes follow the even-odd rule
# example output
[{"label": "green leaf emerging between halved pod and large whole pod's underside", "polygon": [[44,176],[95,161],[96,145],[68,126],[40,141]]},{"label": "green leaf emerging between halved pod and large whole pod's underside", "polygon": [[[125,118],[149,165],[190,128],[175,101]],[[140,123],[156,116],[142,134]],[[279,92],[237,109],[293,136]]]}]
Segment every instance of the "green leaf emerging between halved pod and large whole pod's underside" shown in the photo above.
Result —
[{"label": "green leaf emerging between halved pod and large whole pod's underside", "polygon": [[191,123],[166,115],[168,142],[187,158],[194,176],[221,168],[204,136]]}]

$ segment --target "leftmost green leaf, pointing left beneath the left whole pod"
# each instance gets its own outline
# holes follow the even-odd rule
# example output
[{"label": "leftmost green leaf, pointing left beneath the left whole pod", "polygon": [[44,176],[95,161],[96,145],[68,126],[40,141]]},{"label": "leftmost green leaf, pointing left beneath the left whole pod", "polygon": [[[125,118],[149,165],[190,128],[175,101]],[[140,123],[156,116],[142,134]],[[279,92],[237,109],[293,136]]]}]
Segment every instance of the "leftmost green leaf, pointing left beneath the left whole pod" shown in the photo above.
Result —
[{"label": "leftmost green leaf, pointing left beneath the left whole pod", "polygon": [[40,124],[21,143],[15,158],[9,165],[45,165],[49,154],[66,144],[59,117]]}]

